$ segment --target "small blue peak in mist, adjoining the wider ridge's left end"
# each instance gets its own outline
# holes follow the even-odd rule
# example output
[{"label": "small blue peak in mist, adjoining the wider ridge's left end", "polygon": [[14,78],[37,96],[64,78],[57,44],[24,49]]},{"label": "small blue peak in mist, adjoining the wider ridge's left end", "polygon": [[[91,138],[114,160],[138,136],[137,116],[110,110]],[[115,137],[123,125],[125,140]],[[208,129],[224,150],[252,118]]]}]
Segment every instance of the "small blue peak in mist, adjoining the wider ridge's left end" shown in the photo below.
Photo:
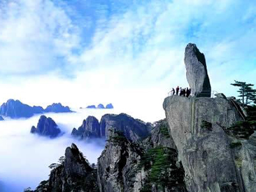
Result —
[{"label": "small blue peak in mist, adjoining the wider ridge's left end", "polygon": [[100,138],[99,121],[94,116],[88,116],[78,129],[73,129],[71,134],[79,137],[82,140]]}]

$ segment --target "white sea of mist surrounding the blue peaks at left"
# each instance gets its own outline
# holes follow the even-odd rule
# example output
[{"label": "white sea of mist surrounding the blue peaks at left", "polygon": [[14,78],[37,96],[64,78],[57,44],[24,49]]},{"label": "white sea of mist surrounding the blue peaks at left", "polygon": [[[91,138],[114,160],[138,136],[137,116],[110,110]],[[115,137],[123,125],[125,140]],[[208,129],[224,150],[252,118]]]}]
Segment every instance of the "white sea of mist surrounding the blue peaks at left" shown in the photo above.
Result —
[{"label": "white sea of mist surrounding the blue peaks at left", "polygon": [[116,113],[115,109],[73,109],[77,113],[45,113],[51,117],[61,131],[62,136],[49,139],[30,134],[32,125],[37,125],[40,115],[31,118],[12,120],[5,118],[0,122],[0,191],[16,192],[31,187],[35,189],[42,180],[49,179],[51,163],[65,154],[65,148],[72,143],[90,163],[97,163],[97,158],[104,149],[105,140],[79,141],[70,135],[74,127],[79,127],[87,116],[100,120],[106,113]]}]

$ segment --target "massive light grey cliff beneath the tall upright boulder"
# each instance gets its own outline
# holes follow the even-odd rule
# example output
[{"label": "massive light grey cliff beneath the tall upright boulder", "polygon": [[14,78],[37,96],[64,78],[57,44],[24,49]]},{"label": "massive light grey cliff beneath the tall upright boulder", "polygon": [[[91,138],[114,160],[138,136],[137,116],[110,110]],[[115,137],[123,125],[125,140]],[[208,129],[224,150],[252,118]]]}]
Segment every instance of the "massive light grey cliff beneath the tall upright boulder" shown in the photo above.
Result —
[{"label": "massive light grey cliff beneath the tall upright boulder", "polygon": [[243,120],[231,100],[173,95],[163,104],[186,173],[188,191],[256,189],[253,144],[227,130]]}]

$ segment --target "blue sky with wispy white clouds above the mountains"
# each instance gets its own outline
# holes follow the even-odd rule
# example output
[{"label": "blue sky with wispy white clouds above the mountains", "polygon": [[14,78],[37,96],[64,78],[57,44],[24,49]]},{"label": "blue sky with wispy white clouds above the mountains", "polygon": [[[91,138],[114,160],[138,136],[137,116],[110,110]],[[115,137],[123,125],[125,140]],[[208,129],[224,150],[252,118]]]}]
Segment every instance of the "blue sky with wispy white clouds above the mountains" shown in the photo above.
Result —
[{"label": "blue sky with wispy white clouds above the mountains", "polygon": [[0,100],[124,110],[127,100],[163,114],[170,88],[188,86],[189,42],[205,54],[212,90],[236,95],[234,79],[255,83],[255,26],[249,0],[1,1]]}]

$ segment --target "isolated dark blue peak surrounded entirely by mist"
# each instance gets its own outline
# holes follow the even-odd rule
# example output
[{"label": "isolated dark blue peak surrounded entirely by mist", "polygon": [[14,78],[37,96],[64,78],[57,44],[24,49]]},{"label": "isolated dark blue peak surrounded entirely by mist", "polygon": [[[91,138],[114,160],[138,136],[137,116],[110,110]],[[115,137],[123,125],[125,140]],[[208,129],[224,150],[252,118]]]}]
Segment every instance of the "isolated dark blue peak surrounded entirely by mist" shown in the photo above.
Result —
[{"label": "isolated dark blue peak surrounded entirely by mist", "polygon": [[32,126],[32,134],[38,134],[40,136],[48,136],[49,138],[56,138],[60,135],[61,130],[58,128],[58,125],[50,117],[44,115],[40,116],[37,126]]}]

